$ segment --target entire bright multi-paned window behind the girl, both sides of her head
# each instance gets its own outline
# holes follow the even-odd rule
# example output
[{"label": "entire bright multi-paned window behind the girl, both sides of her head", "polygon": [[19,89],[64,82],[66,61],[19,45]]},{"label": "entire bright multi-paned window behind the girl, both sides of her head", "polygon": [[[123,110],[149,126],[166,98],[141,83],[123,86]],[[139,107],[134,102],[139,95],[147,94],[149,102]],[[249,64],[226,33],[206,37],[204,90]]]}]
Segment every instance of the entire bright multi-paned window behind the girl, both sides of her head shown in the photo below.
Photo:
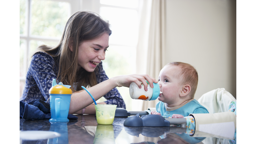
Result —
[{"label": "entire bright multi-paned window behind the girl, both sides of her head", "polygon": [[[68,18],[79,10],[96,12],[111,25],[109,48],[103,61],[107,76],[135,73],[139,0],[20,0],[20,96],[31,52],[41,44],[55,46]],[[127,110],[132,110],[129,88],[117,89]]]}]

